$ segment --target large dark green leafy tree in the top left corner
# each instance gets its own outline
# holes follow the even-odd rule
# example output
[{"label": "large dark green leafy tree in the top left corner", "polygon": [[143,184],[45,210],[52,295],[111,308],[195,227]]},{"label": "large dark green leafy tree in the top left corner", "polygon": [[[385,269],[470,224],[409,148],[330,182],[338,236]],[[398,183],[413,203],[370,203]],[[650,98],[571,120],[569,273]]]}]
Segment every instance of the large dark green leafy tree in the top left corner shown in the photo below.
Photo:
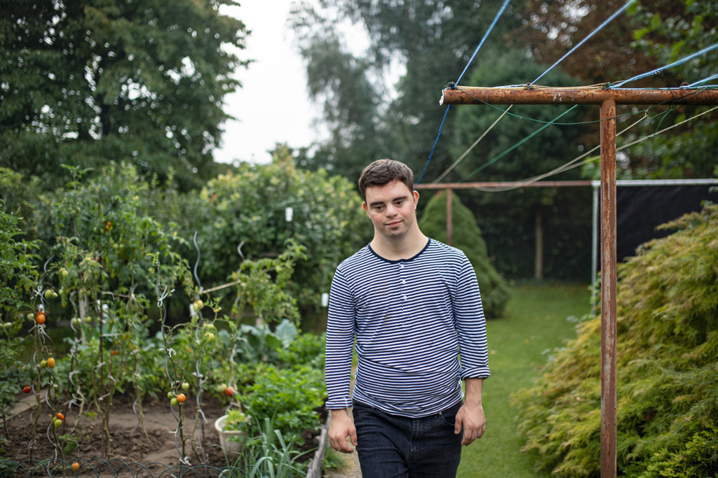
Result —
[{"label": "large dark green leafy tree in the top left corner", "polygon": [[210,173],[244,46],[235,0],[3,2],[0,166],[67,177],[131,161],[183,189]]}]

